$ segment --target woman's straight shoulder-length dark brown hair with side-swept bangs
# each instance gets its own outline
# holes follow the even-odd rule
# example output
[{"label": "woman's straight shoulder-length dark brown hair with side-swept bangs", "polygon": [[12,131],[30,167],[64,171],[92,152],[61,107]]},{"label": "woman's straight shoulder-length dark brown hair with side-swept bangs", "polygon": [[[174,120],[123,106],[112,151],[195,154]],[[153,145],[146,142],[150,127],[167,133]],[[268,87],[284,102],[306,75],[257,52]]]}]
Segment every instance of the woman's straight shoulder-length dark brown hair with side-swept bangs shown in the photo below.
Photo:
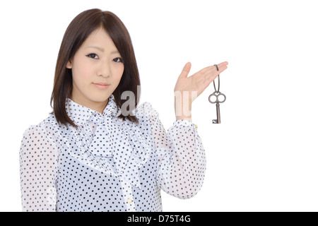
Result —
[{"label": "woman's straight shoulder-length dark brown hair with side-swept bangs", "polygon": [[[51,96],[51,107],[54,101],[53,111],[50,114],[55,115],[59,124],[77,126],[69,118],[66,113],[65,103],[66,97],[71,97],[73,80],[71,69],[66,68],[66,64],[73,59],[76,51],[86,40],[91,32],[98,28],[104,28],[112,42],[124,59],[124,73],[116,90],[112,93],[117,106],[120,108],[126,100],[121,100],[122,93],[129,90],[135,95],[135,108],[139,102],[137,95],[137,87],[140,85],[139,71],[134,54],[134,48],[131,38],[122,20],[110,11],[101,11],[99,8],[92,8],[78,14],[66,29],[59,54],[57,57],[57,65],[55,67],[54,87]],[[129,109],[131,112],[133,109]],[[129,119],[138,122],[136,116],[128,114],[126,117],[122,114],[118,116],[122,119]]]}]

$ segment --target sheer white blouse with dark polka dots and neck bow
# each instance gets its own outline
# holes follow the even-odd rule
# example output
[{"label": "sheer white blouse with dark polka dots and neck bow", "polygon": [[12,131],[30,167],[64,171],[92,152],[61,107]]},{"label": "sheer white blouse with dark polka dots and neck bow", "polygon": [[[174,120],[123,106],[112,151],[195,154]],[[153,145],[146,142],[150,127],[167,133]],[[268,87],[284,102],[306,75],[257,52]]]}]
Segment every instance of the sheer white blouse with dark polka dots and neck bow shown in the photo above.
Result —
[{"label": "sheer white blouse with dark polka dots and neck bow", "polygon": [[160,190],[192,198],[204,182],[206,156],[196,125],[176,120],[165,131],[150,103],[119,119],[111,95],[102,114],[66,99],[78,126],[50,114],[23,133],[23,211],[163,211]]}]

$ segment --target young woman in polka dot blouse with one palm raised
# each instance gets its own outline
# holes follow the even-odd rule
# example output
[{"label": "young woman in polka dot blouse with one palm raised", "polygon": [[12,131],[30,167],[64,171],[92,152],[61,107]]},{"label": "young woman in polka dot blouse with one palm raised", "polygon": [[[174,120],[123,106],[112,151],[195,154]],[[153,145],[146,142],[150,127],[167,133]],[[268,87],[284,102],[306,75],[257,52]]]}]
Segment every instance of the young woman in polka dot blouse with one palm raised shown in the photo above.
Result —
[{"label": "young woman in polka dot blouse with one palm raised", "polygon": [[[191,64],[184,66],[175,85],[182,94],[175,98],[176,120],[166,133],[150,103],[137,107],[139,71],[122,21],[98,8],[78,14],[59,49],[53,111],[23,134],[23,210],[162,211],[160,189],[193,197],[206,158],[187,113],[227,64],[190,77]],[[129,100],[122,98],[127,92]]]}]

